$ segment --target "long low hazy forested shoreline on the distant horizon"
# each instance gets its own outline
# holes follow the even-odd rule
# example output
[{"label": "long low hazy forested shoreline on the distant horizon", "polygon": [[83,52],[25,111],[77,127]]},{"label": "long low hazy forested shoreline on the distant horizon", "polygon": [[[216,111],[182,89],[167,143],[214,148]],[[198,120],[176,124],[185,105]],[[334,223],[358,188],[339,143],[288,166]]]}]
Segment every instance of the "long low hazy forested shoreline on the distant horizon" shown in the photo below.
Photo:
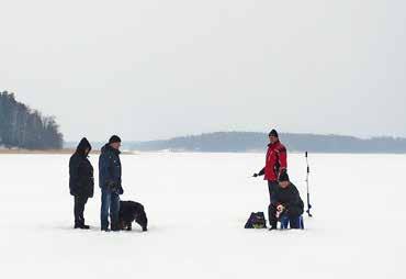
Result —
[{"label": "long low hazy forested shoreline on the distant horizon", "polygon": [[[280,134],[291,152],[313,153],[406,153],[406,138],[373,137],[362,140],[353,136]],[[250,132],[218,132],[195,136],[174,137],[167,141],[127,143],[128,149],[172,152],[259,152],[268,144],[268,134]]]}]

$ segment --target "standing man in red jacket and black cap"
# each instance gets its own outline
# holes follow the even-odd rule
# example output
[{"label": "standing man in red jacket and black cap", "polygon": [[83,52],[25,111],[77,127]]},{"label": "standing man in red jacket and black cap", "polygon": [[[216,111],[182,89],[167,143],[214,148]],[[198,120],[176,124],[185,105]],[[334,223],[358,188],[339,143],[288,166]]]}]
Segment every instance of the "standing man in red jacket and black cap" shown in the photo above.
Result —
[{"label": "standing man in red jacket and black cap", "polygon": [[287,169],[287,154],[286,147],[279,141],[279,135],[275,130],[269,133],[270,144],[268,145],[266,167],[253,174],[253,177],[264,175],[264,180],[268,180],[269,196],[278,188],[278,180],[282,172]]}]

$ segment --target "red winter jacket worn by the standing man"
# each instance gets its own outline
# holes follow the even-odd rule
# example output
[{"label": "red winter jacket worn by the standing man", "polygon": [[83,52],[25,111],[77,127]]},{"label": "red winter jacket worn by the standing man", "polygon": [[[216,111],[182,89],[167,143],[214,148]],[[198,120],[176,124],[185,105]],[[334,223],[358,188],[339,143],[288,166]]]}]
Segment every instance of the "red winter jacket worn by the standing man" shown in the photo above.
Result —
[{"label": "red winter jacket worn by the standing man", "polygon": [[268,145],[266,167],[259,172],[264,180],[278,181],[281,171],[287,168],[287,153],[281,142]]}]

